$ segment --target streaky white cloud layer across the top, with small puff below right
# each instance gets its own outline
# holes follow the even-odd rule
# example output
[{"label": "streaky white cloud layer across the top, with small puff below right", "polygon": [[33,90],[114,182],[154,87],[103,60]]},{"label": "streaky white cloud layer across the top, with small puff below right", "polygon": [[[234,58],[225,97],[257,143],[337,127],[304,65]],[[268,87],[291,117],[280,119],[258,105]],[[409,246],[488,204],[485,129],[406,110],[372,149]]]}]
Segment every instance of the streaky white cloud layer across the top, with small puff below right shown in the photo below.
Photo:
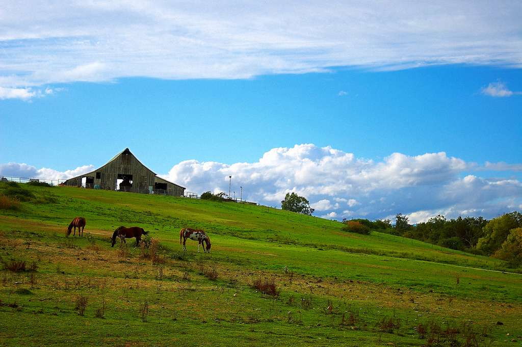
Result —
[{"label": "streaky white cloud layer across the top, with small puff below right", "polygon": [[[7,1],[0,11],[0,99],[45,96],[42,86],[56,83],[136,76],[235,79],[336,66],[520,68],[520,18],[521,2],[485,0]],[[510,96],[494,85],[483,93]]]}]

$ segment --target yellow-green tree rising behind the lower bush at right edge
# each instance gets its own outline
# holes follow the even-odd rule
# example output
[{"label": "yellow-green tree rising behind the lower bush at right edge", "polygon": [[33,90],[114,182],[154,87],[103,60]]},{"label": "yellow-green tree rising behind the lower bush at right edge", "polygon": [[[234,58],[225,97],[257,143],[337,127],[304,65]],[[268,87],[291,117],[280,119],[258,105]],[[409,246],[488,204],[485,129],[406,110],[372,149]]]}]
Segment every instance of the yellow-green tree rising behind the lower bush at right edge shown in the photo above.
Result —
[{"label": "yellow-green tree rising behind the lower bush at right edge", "polygon": [[509,231],[522,226],[522,214],[519,212],[506,213],[489,221],[484,226],[484,236],[477,243],[477,249],[491,255],[502,246]]}]

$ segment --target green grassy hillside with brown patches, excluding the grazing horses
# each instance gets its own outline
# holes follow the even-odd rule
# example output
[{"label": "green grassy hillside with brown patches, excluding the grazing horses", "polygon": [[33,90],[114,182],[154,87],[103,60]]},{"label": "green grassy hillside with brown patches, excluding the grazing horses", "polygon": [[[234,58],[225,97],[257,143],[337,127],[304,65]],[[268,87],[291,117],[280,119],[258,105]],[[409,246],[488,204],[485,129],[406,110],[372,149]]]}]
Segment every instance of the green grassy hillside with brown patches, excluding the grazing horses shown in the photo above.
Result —
[{"label": "green grassy hillside with brown patches, excluding the grazing horses", "polygon": [[[377,232],[347,233],[339,222],[262,206],[20,186],[32,193],[29,201],[0,209],[6,345],[522,341],[522,276],[502,271],[500,260]],[[0,184],[0,193],[6,189]],[[66,238],[76,216],[87,219],[86,233]],[[109,235],[120,225],[150,231],[159,258],[111,248]],[[204,229],[212,253],[196,253],[193,241],[182,252],[185,226]],[[13,260],[38,268],[10,271]],[[84,316],[80,298],[87,300]]]}]

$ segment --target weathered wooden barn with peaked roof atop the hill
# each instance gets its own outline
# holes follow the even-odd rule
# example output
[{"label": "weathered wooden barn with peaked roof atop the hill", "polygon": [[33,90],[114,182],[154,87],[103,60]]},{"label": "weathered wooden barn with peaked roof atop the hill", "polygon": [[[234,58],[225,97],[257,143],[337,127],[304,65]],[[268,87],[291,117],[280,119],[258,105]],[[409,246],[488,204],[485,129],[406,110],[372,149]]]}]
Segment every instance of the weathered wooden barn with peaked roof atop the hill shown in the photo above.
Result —
[{"label": "weathered wooden barn with peaked roof atop the hill", "polygon": [[185,187],[158,177],[125,148],[108,163],[92,172],[69,178],[69,186],[124,192],[183,196]]}]

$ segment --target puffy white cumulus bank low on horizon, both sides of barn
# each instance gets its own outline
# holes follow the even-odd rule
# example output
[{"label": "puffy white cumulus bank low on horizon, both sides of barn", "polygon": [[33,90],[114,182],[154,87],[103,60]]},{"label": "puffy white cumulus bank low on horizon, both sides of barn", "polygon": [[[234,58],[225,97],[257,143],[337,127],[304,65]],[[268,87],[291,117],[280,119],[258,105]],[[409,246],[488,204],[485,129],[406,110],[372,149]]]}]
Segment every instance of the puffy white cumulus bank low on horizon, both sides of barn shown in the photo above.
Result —
[{"label": "puffy white cumulus bank low on horizon, both sides of barn", "polygon": [[[27,164],[0,164],[0,175],[46,179],[70,178],[94,170],[93,165],[59,172]],[[416,223],[443,214],[483,216],[522,209],[522,182],[515,178],[480,177],[471,171],[521,171],[522,164],[483,166],[446,153],[409,156],[392,153],[382,161],[313,144],[273,148],[254,163],[224,164],[185,160],[164,175],[199,194],[232,190],[243,199],[280,207],[288,192],[308,198],[315,215],[328,219],[392,218],[406,214]]]}]

